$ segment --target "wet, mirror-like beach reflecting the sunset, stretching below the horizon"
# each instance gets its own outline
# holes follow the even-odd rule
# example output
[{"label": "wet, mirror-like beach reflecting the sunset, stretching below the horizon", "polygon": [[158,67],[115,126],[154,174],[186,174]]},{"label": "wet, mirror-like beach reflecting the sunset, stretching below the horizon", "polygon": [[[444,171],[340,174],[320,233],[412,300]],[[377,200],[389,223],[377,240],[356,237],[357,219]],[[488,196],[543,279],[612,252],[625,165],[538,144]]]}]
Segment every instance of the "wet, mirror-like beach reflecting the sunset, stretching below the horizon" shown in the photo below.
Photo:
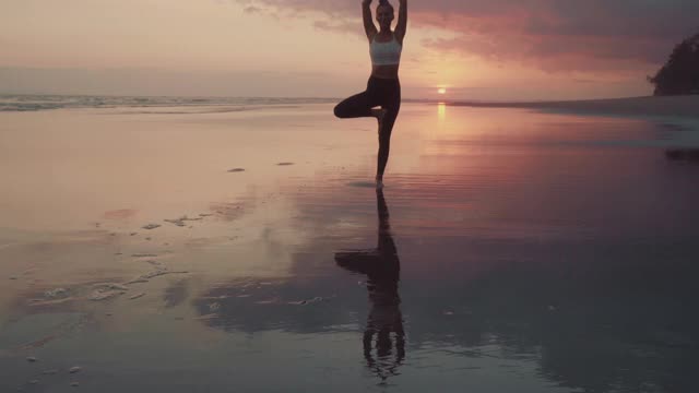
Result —
[{"label": "wet, mirror-like beach reflecting the sunset, stretching below the horizon", "polygon": [[331,100],[13,104],[0,391],[691,391],[697,98],[639,99],[404,103],[381,191]]}]

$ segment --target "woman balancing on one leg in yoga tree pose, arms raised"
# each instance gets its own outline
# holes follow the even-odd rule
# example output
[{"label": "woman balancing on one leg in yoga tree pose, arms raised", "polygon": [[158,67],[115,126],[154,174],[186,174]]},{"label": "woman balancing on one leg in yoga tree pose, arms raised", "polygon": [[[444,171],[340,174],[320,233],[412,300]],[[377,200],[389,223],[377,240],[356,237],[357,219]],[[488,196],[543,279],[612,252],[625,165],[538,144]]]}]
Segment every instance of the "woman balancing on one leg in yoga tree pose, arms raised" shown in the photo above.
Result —
[{"label": "woman balancing on one leg in yoga tree pose, arms raised", "polygon": [[[407,0],[399,0],[400,10],[395,31],[391,31],[393,7],[388,0],[379,0],[376,20],[379,31],[371,21],[371,0],[362,1],[364,29],[369,39],[371,76],[367,90],[335,106],[339,118],[375,117],[379,122],[379,157],[376,168],[376,187],[383,187],[383,170],[389,160],[391,131],[401,108],[401,84],[398,68],[403,49],[403,38],[407,27]],[[381,109],[374,109],[380,106]]]}]

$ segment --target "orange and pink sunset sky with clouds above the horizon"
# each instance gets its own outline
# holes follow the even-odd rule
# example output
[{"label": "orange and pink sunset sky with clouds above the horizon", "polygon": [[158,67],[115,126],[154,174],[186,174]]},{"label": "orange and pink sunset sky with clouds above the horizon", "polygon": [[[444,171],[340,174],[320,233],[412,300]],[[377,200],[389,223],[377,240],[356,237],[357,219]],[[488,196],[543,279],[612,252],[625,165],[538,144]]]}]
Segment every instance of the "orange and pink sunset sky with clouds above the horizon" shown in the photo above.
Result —
[{"label": "orange and pink sunset sky with clouds above the horizon", "polygon": [[[0,94],[343,97],[370,72],[360,0],[1,1]],[[697,0],[408,8],[406,98],[649,95],[645,76],[699,31]]]}]

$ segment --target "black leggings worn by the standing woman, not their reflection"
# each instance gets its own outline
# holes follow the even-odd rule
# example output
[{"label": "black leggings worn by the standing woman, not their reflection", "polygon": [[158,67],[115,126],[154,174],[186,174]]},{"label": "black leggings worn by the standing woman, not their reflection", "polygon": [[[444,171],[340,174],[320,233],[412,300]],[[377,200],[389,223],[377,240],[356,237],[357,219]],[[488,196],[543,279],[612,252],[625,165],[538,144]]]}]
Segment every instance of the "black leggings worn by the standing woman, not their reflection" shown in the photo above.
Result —
[{"label": "black leggings worn by the standing woman, not their reflection", "polygon": [[377,175],[383,176],[389,159],[391,131],[401,109],[401,83],[398,79],[370,76],[367,90],[344,99],[335,106],[335,116],[341,119],[371,117],[371,108],[386,109],[381,132],[379,133],[379,162]]}]

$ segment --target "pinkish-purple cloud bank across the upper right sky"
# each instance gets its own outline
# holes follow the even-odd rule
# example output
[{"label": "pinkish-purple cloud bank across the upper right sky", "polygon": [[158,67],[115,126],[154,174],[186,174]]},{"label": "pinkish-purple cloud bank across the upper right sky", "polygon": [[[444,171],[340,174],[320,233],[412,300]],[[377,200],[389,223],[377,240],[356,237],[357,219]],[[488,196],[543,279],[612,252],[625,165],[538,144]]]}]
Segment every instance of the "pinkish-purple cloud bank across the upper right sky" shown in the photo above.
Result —
[{"label": "pinkish-purple cloud bank across the upper right sky", "polygon": [[[234,0],[263,4],[282,17],[325,15],[315,26],[359,29],[358,0]],[[398,1],[393,1],[398,5]],[[420,44],[547,71],[618,71],[660,64],[673,46],[699,28],[696,0],[408,0],[412,27],[439,27],[453,39]]]}]

